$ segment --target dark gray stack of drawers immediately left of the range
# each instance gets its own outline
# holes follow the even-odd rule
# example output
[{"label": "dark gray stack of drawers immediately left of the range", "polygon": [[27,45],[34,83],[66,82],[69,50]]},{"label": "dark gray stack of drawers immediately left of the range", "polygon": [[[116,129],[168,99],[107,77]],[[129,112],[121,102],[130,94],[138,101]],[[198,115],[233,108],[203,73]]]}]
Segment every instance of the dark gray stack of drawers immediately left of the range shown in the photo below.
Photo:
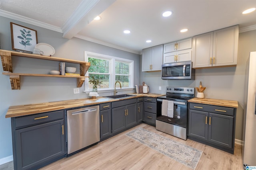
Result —
[{"label": "dark gray stack of drawers immediately left of the range", "polygon": [[144,122],[156,126],[156,98],[144,97]]}]

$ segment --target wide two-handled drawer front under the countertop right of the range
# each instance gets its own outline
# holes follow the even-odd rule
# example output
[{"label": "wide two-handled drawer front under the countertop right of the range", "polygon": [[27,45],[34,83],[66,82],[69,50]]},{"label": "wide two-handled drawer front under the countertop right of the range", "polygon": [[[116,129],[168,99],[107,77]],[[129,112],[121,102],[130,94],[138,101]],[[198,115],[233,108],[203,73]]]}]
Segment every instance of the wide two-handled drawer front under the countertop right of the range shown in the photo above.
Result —
[{"label": "wide two-handled drawer front under the countertop right of the range", "polygon": [[190,103],[189,109],[234,116],[234,108],[230,108],[230,107],[210,106],[210,105],[205,105],[205,104]]}]

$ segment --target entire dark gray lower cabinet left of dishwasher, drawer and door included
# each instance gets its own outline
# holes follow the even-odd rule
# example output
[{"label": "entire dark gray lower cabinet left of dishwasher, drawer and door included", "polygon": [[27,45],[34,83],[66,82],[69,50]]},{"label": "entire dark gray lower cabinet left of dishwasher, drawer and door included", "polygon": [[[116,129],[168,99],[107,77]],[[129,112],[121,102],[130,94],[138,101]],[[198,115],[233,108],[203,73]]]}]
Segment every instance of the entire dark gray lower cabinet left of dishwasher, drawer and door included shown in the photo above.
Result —
[{"label": "entire dark gray lower cabinet left of dishwasher, drawer and door included", "polygon": [[14,169],[38,169],[66,156],[63,110],[12,117]]}]

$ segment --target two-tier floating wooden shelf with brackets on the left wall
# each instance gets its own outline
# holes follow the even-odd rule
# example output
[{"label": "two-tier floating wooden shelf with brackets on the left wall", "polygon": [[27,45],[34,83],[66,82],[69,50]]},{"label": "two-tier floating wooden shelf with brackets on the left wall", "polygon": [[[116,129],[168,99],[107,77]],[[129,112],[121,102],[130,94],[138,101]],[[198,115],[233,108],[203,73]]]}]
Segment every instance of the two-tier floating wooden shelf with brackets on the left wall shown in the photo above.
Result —
[{"label": "two-tier floating wooden shelf with brackets on the left wall", "polygon": [[[0,50],[1,61],[4,72],[2,74],[10,76],[10,82],[12,90],[20,90],[20,76],[47,76],[47,77],[72,77],[77,78],[77,87],[81,87],[87,76],[84,76],[90,67],[90,63],[85,61],[76,61],[71,59],[62,59],[57,57],[48,57],[37,54],[20,53],[16,51]],[[44,59],[52,61],[61,61],[68,63],[80,64],[80,76],[68,76],[68,75],[52,75],[52,74],[27,74],[27,73],[13,73],[12,72],[12,56],[18,57],[30,57],[34,59]]]}]

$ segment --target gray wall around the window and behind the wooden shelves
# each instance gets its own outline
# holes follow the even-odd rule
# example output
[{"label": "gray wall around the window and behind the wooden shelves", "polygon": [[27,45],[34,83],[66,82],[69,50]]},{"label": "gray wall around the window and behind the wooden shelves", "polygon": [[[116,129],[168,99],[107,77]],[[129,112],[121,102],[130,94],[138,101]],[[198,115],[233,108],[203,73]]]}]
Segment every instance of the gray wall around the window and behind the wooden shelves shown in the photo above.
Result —
[{"label": "gray wall around the window and behind the wooden shelves", "polygon": [[[84,61],[84,51],[90,51],[133,60],[134,84],[139,84],[140,74],[136,73],[140,71],[140,55],[78,38],[64,39],[62,38],[62,33],[2,16],[0,16],[1,49],[12,50],[10,22],[37,30],[38,43],[52,45],[56,51],[54,57]],[[13,57],[13,68],[14,72],[47,74],[50,70],[58,69],[58,62]],[[3,68],[0,66],[0,160],[12,155],[11,119],[5,118],[9,106],[88,98],[88,94],[83,92],[84,85],[80,88],[80,94],[73,94],[73,88],[76,88],[76,78],[21,76],[21,90],[11,90],[9,76],[2,75],[2,72]],[[134,92],[134,90],[129,92]],[[101,93],[100,96],[110,94],[112,95],[113,92]]]}]

